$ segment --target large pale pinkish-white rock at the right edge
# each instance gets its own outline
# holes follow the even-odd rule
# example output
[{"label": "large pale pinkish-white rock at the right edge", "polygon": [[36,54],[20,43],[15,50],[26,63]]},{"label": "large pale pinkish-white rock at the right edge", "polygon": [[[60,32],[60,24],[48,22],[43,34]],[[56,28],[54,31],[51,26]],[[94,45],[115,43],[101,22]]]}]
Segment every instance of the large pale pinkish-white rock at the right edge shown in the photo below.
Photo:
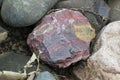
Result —
[{"label": "large pale pinkish-white rock at the right edge", "polygon": [[79,80],[119,80],[120,79],[120,21],[108,24],[95,45],[94,54],[87,66],[73,69]]}]

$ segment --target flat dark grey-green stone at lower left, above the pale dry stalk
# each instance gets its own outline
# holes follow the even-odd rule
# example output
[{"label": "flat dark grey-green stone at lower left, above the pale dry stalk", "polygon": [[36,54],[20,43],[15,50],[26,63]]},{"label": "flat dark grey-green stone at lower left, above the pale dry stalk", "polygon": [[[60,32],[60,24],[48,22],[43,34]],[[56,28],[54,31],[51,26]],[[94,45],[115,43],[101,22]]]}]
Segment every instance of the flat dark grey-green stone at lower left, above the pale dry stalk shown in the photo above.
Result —
[{"label": "flat dark grey-green stone at lower left, above the pale dry stalk", "polygon": [[30,57],[22,53],[6,52],[0,55],[0,71],[19,71]]}]

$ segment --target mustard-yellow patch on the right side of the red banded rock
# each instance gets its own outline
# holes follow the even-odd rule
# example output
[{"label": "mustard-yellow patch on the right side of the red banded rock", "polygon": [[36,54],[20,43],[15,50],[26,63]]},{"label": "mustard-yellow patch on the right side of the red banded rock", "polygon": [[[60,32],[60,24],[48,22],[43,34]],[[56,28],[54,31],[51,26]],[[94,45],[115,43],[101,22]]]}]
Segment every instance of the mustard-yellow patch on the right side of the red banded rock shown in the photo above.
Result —
[{"label": "mustard-yellow patch on the right side of the red banded rock", "polygon": [[90,42],[95,37],[95,30],[88,24],[74,25],[75,35],[86,42]]}]

